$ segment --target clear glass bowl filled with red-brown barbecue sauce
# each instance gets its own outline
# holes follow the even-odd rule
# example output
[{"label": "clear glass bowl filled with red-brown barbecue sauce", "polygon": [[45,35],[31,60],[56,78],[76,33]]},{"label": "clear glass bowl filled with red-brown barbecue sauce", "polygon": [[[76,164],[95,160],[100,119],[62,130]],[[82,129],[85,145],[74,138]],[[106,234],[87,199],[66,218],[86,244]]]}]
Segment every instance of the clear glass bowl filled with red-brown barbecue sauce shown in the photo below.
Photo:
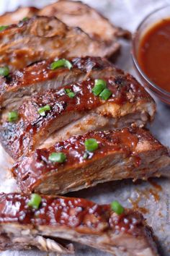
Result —
[{"label": "clear glass bowl filled with red-brown barbecue sauce", "polygon": [[140,23],[133,35],[132,56],[143,85],[170,105],[170,5]]}]

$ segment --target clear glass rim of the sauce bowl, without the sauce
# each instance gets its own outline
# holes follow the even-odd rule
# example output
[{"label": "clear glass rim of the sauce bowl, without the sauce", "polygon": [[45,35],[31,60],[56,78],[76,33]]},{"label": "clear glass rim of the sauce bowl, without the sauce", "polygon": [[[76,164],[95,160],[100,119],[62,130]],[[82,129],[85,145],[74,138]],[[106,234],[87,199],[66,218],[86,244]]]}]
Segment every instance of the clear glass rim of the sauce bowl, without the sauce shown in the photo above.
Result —
[{"label": "clear glass rim of the sauce bowl, without the sauce", "polygon": [[[132,56],[133,62],[134,62],[134,64],[135,64],[135,67],[138,69],[138,72],[139,72],[140,75],[143,77],[143,79],[146,80],[146,82],[148,83],[148,85],[151,85],[151,89],[154,88],[153,91],[156,91],[156,90],[157,90],[159,93],[164,94],[164,95],[166,95],[166,96],[169,96],[169,98],[170,98],[170,92],[168,92],[167,90],[164,90],[164,89],[162,89],[161,87],[159,87],[158,85],[156,85],[154,82],[152,82],[152,81],[150,80],[150,78],[146,75],[146,73],[143,72],[143,70],[142,70],[141,67],[140,67],[140,64],[138,63],[138,58],[137,58],[136,53],[135,53],[135,38],[136,38],[136,36],[138,35],[138,31],[140,30],[140,27],[141,27],[141,26],[143,25],[143,23],[146,22],[146,20],[148,20],[148,18],[151,17],[153,14],[155,14],[156,12],[161,11],[162,9],[166,9],[167,7],[170,7],[170,4],[166,4],[166,5],[164,5],[163,7],[159,7],[159,8],[157,8],[157,9],[153,10],[152,12],[150,12],[149,14],[147,14],[147,15],[143,18],[143,20],[139,23],[139,25],[138,25],[138,27],[136,28],[135,33],[133,33],[133,37],[132,37],[132,54],[131,54],[131,56]],[[169,14],[169,20],[170,20],[170,14]],[[154,24],[154,23],[153,23],[153,24]],[[147,29],[146,29],[146,31],[147,31]],[[150,87],[148,86],[148,88],[150,88]]]}]

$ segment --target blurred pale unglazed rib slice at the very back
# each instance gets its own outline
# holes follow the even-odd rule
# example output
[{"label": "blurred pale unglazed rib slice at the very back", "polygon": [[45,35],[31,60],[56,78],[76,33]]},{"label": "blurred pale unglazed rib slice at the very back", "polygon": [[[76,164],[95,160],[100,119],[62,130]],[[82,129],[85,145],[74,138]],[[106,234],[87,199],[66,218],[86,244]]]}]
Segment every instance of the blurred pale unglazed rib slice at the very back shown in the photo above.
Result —
[{"label": "blurred pale unglazed rib slice at the very back", "polygon": [[40,9],[38,15],[56,16],[66,25],[81,27],[91,38],[107,44],[114,42],[118,37],[130,36],[127,30],[115,27],[99,12],[81,1],[57,1]]}]

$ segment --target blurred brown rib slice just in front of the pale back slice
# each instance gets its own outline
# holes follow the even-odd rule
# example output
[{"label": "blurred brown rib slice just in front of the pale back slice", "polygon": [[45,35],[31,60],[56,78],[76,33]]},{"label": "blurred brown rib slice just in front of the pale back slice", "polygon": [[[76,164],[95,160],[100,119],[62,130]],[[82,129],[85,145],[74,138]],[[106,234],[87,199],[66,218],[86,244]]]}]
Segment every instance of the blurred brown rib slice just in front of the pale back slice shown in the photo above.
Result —
[{"label": "blurred brown rib slice just in front of the pale back slice", "polygon": [[11,70],[49,58],[110,56],[120,47],[107,46],[89,37],[79,27],[68,27],[55,17],[32,17],[0,33],[0,65]]}]

